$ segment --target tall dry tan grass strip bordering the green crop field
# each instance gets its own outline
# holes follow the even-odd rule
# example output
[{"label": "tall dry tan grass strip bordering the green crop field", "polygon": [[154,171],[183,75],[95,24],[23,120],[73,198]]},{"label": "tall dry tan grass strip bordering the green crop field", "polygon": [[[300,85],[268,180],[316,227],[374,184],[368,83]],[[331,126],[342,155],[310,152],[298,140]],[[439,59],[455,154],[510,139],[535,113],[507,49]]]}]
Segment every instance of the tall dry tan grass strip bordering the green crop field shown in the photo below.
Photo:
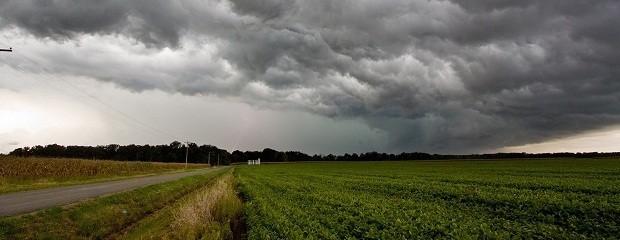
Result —
[{"label": "tall dry tan grass strip bordering the green crop field", "polygon": [[119,239],[245,239],[243,203],[232,171],[139,222]]}]

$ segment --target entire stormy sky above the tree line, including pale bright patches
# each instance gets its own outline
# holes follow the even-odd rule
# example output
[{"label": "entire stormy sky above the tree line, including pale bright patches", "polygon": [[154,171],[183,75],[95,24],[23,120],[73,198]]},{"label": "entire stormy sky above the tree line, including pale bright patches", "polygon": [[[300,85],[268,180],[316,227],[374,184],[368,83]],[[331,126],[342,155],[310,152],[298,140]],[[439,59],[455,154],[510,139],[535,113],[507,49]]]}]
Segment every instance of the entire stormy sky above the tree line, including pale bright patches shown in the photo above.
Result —
[{"label": "entire stormy sky above the tree line, including pale bright patches", "polygon": [[0,153],[620,151],[615,0],[0,0]]}]

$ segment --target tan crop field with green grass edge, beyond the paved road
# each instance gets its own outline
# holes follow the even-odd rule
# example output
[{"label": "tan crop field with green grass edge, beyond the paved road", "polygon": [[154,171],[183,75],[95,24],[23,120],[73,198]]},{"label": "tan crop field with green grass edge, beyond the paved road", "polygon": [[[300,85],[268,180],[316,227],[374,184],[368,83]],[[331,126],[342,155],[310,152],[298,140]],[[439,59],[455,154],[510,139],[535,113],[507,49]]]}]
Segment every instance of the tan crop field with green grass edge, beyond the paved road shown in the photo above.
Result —
[{"label": "tan crop field with green grass edge, beyond the paved road", "polygon": [[119,162],[108,160],[0,157],[0,194],[104,182],[187,169],[208,164]]}]

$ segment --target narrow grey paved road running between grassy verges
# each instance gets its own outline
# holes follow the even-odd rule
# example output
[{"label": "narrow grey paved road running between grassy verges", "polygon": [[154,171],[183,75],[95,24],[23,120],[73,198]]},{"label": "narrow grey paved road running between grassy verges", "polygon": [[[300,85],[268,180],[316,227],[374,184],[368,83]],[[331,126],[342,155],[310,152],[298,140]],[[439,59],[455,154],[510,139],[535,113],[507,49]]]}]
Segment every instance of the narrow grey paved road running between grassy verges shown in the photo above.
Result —
[{"label": "narrow grey paved road running between grassy verges", "polygon": [[221,168],[171,173],[110,182],[75,185],[60,188],[7,193],[0,195],[0,216],[33,212],[43,208],[62,206],[106,194],[127,191],[184,177],[205,174]]}]

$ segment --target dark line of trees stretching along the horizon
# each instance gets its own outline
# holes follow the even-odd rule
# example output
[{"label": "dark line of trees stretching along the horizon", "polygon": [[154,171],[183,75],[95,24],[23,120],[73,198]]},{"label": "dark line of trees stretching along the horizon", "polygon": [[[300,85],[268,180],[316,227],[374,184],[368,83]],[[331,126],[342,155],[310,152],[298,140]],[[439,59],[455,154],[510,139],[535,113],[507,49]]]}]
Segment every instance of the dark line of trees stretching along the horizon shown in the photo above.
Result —
[{"label": "dark line of trees stretching along the horizon", "polygon": [[277,151],[265,148],[262,151],[240,151],[232,153],[212,145],[187,145],[175,141],[168,145],[118,145],[104,146],[46,146],[23,147],[13,150],[9,155],[19,157],[82,158],[118,161],[143,162],[177,162],[184,163],[187,153],[189,163],[210,163],[211,165],[229,165],[245,163],[260,158],[262,162],[304,162],[304,161],[405,161],[405,160],[450,160],[450,159],[507,159],[507,158],[594,158],[620,157],[620,152],[599,153],[490,153],[490,154],[429,154],[421,152],[403,152],[388,154],[379,152],[353,154],[315,154],[308,155],[299,151]]}]

